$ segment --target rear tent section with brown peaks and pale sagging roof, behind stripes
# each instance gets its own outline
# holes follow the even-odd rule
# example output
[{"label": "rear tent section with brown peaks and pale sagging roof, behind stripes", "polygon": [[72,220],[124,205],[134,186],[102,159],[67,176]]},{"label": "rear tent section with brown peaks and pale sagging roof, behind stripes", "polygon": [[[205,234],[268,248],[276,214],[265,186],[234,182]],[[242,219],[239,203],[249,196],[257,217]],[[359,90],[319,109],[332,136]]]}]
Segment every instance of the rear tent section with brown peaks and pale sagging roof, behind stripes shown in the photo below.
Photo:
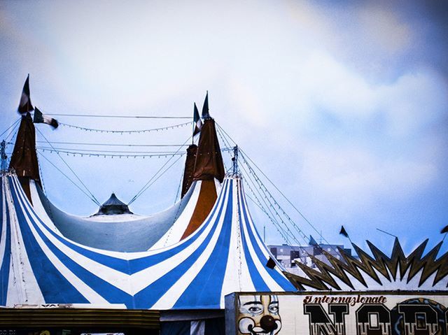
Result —
[{"label": "rear tent section with brown peaks and pale sagging roof, behind stripes", "polygon": [[[181,241],[207,218],[224,177],[215,123],[209,118],[204,120],[198,145],[188,148],[190,154],[183,177],[183,197],[174,206],[150,216],[127,211],[84,218],[64,213],[43,193],[35,143],[31,116],[24,115],[10,167],[18,174],[29,201],[41,215],[48,215],[65,237],[93,248],[136,252]],[[103,214],[101,209],[97,214]]]}]

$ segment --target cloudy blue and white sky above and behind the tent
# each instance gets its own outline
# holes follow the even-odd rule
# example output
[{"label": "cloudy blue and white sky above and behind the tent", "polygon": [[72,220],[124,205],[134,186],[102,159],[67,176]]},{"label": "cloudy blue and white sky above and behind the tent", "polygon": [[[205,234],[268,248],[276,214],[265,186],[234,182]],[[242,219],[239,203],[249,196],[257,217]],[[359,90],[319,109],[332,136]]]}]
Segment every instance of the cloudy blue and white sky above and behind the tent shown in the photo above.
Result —
[{"label": "cloudy blue and white sky above and behind the tent", "polygon": [[[31,99],[43,113],[188,116],[209,90],[218,124],[327,241],[348,245],[338,234],[344,224],[362,247],[369,239],[390,250],[393,237],[377,228],[399,236],[407,252],[425,238],[434,246],[448,224],[442,3],[1,1],[0,131],[18,119],[27,73]],[[97,129],[185,122],[58,118]],[[181,144],[190,136],[190,127],[132,136],[37,127],[50,141]],[[41,134],[37,139],[43,141]],[[57,155],[43,154],[75,180]],[[112,191],[129,201],[166,162],[64,159],[99,201]],[[40,161],[57,206],[77,215],[96,211]],[[135,212],[174,203],[182,161],[132,204]],[[282,243],[253,211],[267,242]],[[288,213],[305,234],[316,234]]]}]

